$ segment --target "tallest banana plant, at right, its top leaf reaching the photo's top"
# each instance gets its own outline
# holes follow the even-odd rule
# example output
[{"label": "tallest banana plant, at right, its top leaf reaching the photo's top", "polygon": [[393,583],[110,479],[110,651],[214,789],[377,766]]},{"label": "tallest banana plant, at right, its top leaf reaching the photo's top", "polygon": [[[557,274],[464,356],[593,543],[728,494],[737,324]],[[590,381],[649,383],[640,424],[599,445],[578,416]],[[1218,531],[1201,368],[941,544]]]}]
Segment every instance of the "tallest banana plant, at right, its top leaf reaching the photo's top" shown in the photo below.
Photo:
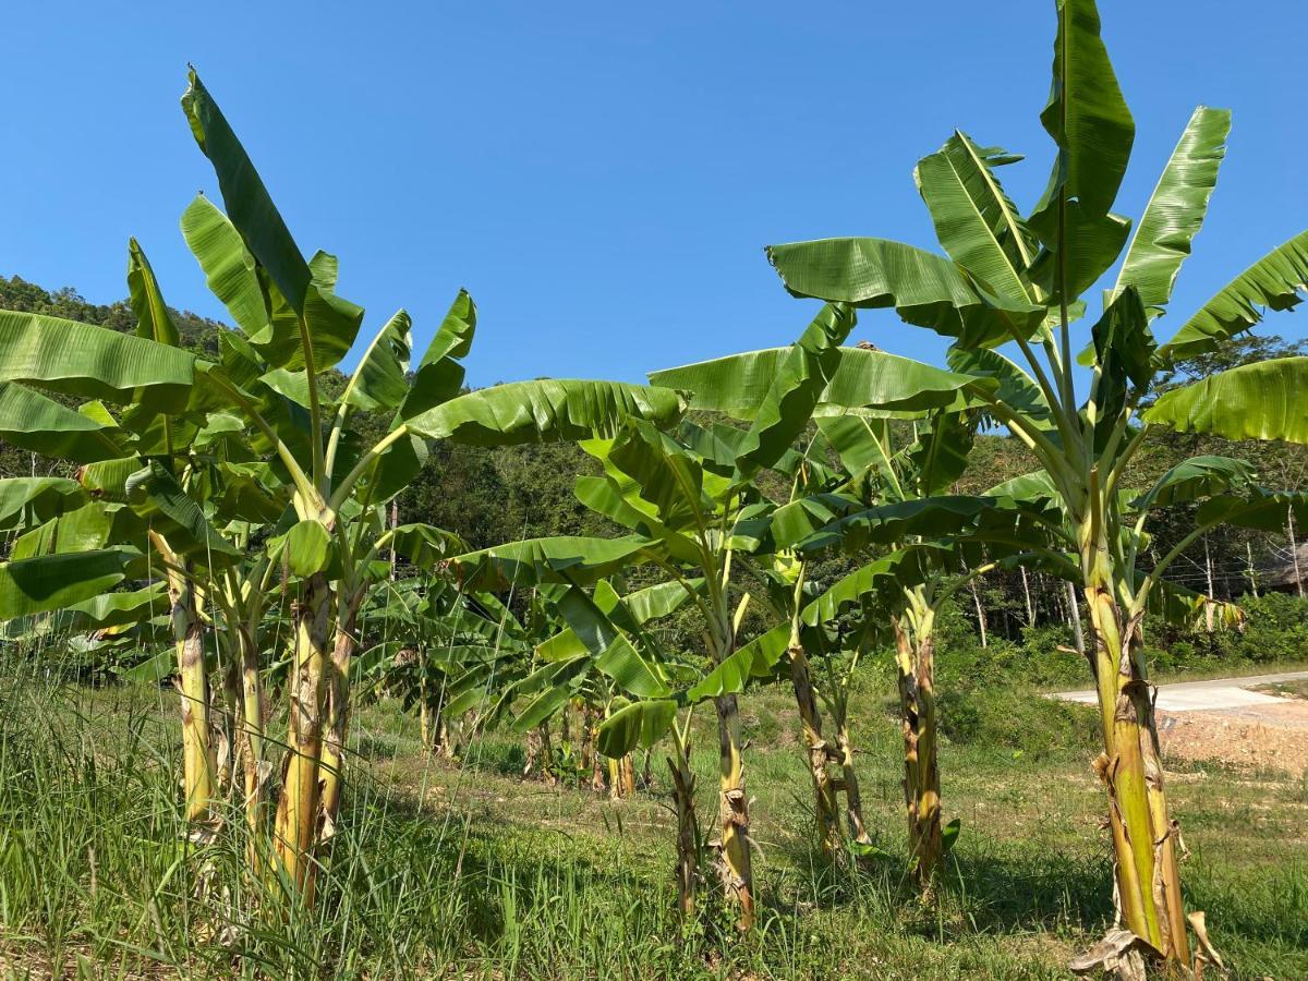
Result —
[{"label": "tallest banana plant, at right, its top leaf reaching the photo's top", "polygon": [[[1159,399],[1143,417],[1139,409],[1159,371],[1177,358],[1219,348],[1256,326],[1265,307],[1299,302],[1308,233],[1250,266],[1159,345],[1151,322],[1164,311],[1202,225],[1230,112],[1196,110],[1133,235],[1112,205],[1135,127],[1100,38],[1099,12],[1093,0],[1056,7],[1053,85],[1041,122],[1057,154],[1029,215],[997,177],[1019,157],[955,132],[914,173],[944,255],[875,238],[773,246],[768,255],[794,296],[893,309],[901,320],[948,336],[951,368],[978,379],[964,394],[1007,426],[1057,487],[1076,528],[1078,579],[1096,637],[1104,740],[1096,769],[1109,798],[1118,908],[1155,956],[1186,964],[1177,825],[1164,793],[1117,489],[1151,424],[1304,439],[1296,392],[1308,379],[1305,358],[1233,369]],[[1091,375],[1082,402],[1073,327],[1086,315],[1083,294],[1124,249],[1082,354]],[[994,349],[1006,343],[1027,370]],[[1292,506],[1278,494],[1239,501],[1211,505],[1201,525],[1232,519],[1243,508],[1253,509],[1254,519],[1277,509],[1283,517]]]}]

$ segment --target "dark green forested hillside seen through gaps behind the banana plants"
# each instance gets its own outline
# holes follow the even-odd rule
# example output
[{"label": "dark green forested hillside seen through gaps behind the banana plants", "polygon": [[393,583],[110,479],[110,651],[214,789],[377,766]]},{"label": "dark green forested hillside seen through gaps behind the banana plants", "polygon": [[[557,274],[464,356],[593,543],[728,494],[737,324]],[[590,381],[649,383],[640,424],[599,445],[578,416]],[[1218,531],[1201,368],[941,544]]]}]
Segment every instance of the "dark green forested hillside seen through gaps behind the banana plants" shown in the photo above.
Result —
[{"label": "dark green forested hillside seen through gaps behind the banana plants", "polygon": [[[86,301],[73,288],[55,290],[18,276],[0,276],[0,309],[30,310],[85,323],[131,331],[135,314],[126,300],[109,305]],[[224,324],[190,311],[173,311],[183,345],[215,357],[217,332]],[[1182,362],[1169,385],[1182,385],[1235,365],[1269,357],[1304,353],[1308,344],[1277,336],[1247,336],[1232,343],[1220,358],[1211,356]],[[649,368],[657,368],[650,365]],[[334,379],[344,383],[335,374]],[[378,420],[378,432],[382,421]],[[1194,455],[1215,454],[1248,460],[1269,487],[1308,487],[1308,449],[1282,443],[1230,443],[1198,436],[1154,429],[1148,445],[1135,456],[1131,485],[1148,485],[1176,463]],[[67,464],[0,442],[0,476],[55,473]],[[968,471],[959,493],[977,493],[1036,468],[1024,447],[1007,436],[988,434],[982,420]],[[428,466],[399,498],[404,521],[425,521],[458,531],[472,547],[543,535],[610,535],[608,526],[573,496],[573,480],[598,472],[595,462],[574,443],[528,445],[502,449],[470,447],[450,441],[433,450]],[[1180,505],[1154,513],[1151,555],[1164,555],[1193,526],[1192,508]],[[1194,543],[1168,578],[1219,599],[1261,593],[1274,573],[1291,566],[1291,542],[1300,531],[1288,523],[1275,532],[1223,527]],[[1282,583],[1282,589],[1284,585]],[[1295,589],[1291,585],[1290,591]],[[973,628],[984,624],[986,638],[1018,641],[1025,629],[1042,624],[1070,624],[1063,586],[1039,572],[995,572],[964,594],[960,611]]]}]

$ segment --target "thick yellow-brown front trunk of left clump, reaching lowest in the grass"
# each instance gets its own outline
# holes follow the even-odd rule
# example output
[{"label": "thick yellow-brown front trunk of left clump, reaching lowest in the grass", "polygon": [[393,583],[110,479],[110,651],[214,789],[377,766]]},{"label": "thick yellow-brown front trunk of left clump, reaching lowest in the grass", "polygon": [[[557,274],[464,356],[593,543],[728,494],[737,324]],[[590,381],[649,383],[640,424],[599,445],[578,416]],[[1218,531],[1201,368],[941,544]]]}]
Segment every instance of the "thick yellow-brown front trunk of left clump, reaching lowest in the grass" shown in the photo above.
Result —
[{"label": "thick yellow-brown front trunk of left clump, reaching lowest in the grass", "polygon": [[323,681],[331,637],[332,590],[322,573],[305,583],[296,610],[294,675],[281,798],[277,802],[277,857],[290,888],[305,905],[314,899],[314,838],[319,819],[323,748]]}]

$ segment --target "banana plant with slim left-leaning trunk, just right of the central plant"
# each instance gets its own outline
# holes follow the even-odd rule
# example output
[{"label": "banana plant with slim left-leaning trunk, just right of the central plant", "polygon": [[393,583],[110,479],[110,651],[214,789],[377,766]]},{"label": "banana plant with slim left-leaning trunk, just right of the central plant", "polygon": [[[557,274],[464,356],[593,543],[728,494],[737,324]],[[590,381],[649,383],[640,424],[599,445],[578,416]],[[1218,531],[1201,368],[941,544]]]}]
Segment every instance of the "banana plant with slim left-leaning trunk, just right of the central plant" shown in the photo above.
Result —
[{"label": "banana plant with slim left-leaning trunk, just right of the central plant", "polygon": [[[768,398],[769,379],[777,375],[786,357],[785,349],[764,349],[657,371],[650,378],[658,385],[691,391],[695,408],[753,419]],[[749,562],[764,582],[761,598],[772,607],[774,617],[791,624],[787,661],[814,781],[818,840],[825,852],[836,855],[845,853],[840,833],[841,789],[846,795],[845,811],[853,840],[867,844],[869,836],[853,765],[844,684],[838,679],[825,687],[815,684],[810,662],[815,657],[827,658],[831,647],[820,644],[818,649],[807,650],[806,640],[821,638],[818,632],[802,630],[798,621],[806,590],[810,598],[816,595],[816,583],[806,581],[807,559],[802,548],[819,527],[841,514],[861,510],[874,498],[879,502],[904,498],[901,483],[906,481],[896,476],[895,454],[886,445],[888,416],[910,419],[931,413],[939,419],[956,419],[959,407],[967,404],[963,390],[976,381],[862,347],[833,348],[828,357],[824,382],[814,391],[814,402],[808,405],[810,413],[816,417],[818,434],[807,453],[791,451],[791,460],[777,460],[793,481],[790,502],[773,517],[772,539],[778,551],[769,562],[743,561]],[[883,408],[872,412],[866,408],[869,405]],[[920,460],[921,470],[926,472],[922,496],[948,485],[957,476],[971,446],[968,432],[961,430],[965,438],[960,438],[959,428],[954,426],[917,449],[913,459]],[[882,442],[878,442],[876,433],[882,433]],[[701,442],[715,439],[734,446],[739,438],[738,430],[715,426]],[[833,463],[832,456],[838,462]],[[901,593],[896,590],[896,594]],[[828,667],[832,666],[828,662]],[[819,698],[833,715],[835,747],[823,735]],[[831,772],[832,765],[838,768],[838,777]],[[930,770],[931,766],[923,768],[923,772]],[[910,800],[921,797],[916,791],[909,793],[908,785],[905,793]],[[930,810],[921,825],[910,818],[910,828],[938,828],[938,808]],[[913,837],[917,841],[916,833]],[[927,862],[918,867],[930,866]]]}]

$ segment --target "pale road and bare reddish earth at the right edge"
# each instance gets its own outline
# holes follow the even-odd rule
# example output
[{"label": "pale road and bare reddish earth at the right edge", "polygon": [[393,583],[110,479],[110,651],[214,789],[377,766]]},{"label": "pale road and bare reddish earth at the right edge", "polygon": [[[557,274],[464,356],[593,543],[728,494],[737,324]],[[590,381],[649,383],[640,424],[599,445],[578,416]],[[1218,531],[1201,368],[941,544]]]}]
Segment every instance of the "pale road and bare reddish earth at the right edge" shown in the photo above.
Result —
[{"label": "pale road and bare reddish earth at the right edge", "polygon": [[[1160,684],[1156,706],[1164,757],[1301,776],[1308,772],[1308,701],[1250,691],[1301,680],[1308,680],[1308,671]],[[1093,692],[1053,697],[1095,702]]]}]

